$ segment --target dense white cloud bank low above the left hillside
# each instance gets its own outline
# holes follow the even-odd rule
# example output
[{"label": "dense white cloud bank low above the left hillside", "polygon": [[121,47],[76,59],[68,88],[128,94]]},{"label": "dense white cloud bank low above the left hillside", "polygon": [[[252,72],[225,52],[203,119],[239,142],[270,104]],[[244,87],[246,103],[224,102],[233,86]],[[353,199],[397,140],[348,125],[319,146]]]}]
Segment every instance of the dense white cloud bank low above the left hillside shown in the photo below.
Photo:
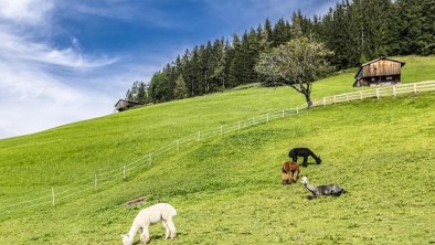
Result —
[{"label": "dense white cloud bank low above the left hillside", "polygon": [[108,96],[66,86],[44,71],[17,63],[0,70],[0,138],[110,113]]}]

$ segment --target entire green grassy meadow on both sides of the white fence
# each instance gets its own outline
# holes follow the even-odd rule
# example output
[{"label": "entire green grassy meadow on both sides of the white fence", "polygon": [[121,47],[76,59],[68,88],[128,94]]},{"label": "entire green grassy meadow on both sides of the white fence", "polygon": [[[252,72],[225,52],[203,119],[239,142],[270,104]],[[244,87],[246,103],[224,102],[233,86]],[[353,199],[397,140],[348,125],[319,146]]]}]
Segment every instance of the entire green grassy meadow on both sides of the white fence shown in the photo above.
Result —
[{"label": "entire green grassy meadow on both sides of the white fence", "polygon": [[[404,83],[435,79],[435,57],[406,62]],[[314,85],[312,97],[357,90],[354,72]],[[151,244],[428,244],[435,242],[435,93],[365,99],[182,147],[126,180],[93,189],[96,172],[119,169],[178,138],[303,105],[290,88],[252,87],[171,102],[0,140],[0,244],[121,244],[139,210],[176,206],[178,238],[152,226]],[[349,193],[308,201],[300,182],[280,184],[293,147],[321,164],[314,184]],[[41,206],[1,209],[12,199],[88,192]],[[71,193],[73,193],[71,191]],[[22,198],[20,198],[22,196]],[[147,203],[123,203],[146,196]],[[35,201],[38,203],[38,201]],[[136,237],[138,242],[138,237]]]}]

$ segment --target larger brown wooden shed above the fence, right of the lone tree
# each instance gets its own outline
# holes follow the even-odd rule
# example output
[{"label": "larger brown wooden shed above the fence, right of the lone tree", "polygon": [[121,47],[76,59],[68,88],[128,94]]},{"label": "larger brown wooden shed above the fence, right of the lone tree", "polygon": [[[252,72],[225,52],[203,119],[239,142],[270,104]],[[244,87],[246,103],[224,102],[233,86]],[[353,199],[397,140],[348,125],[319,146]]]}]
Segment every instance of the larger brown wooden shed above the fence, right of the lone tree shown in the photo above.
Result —
[{"label": "larger brown wooden shed above the fence, right of the lone tree", "polygon": [[380,57],[362,64],[354,76],[353,87],[401,83],[401,71],[404,65],[404,62],[389,57]]}]

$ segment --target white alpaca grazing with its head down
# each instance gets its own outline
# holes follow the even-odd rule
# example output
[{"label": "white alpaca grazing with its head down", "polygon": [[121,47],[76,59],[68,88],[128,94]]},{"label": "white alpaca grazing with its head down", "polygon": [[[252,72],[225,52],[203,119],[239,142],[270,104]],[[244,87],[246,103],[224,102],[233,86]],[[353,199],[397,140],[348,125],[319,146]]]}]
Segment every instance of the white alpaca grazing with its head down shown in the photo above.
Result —
[{"label": "white alpaca grazing with its head down", "polygon": [[157,203],[152,206],[148,206],[145,210],[141,210],[138,215],[132,221],[132,225],[128,234],[123,235],[124,245],[131,245],[137,234],[138,230],[142,230],[142,234],[140,234],[140,242],[147,244],[149,242],[149,232],[148,227],[152,224],[161,221],[166,228],[165,238],[174,238],[177,236],[177,228],[173,224],[172,219],[177,215],[176,209],[169,205],[168,203]]}]

